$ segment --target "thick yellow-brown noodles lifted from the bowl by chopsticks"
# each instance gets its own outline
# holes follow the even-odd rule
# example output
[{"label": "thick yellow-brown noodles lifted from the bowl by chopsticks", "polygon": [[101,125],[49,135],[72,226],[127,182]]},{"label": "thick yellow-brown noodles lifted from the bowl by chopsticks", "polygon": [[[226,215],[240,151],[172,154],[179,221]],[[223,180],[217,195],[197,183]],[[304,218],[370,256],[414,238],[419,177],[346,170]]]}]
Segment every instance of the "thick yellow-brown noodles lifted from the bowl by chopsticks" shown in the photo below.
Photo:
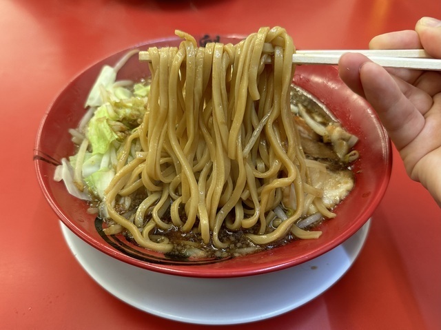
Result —
[{"label": "thick yellow-brown noodles lifted from the bowl by chopsticks", "polygon": [[[222,228],[244,230],[256,245],[288,234],[318,238],[296,224],[323,203],[326,172],[307,159],[291,112],[294,76],[291,37],[283,28],[260,28],[236,45],[198,47],[176,32],[178,47],[150,48],[151,86],[143,122],[126,139],[116,175],[105,189],[109,218],[147,249],[172,251],[170,229],[196,232],[205,245],[229,245]],[[135,157],[128,156],[138,145]],[[143,191],[132,218],[121,205]],[[270,223],[284,196],[296,208]],[[138,195],[139,196],[139,195]]]}]

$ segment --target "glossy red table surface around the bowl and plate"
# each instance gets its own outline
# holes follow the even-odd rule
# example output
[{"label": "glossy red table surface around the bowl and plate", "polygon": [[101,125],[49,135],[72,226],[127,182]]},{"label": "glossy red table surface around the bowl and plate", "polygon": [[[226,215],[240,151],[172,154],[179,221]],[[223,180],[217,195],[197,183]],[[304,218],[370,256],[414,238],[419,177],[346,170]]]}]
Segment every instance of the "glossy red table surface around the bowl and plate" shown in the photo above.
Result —
[{"label": "glossy red table surface around the bowl and plate", "polygon": [[[209,329],[114,298],[83,271],[45,202],[32,153],[43,114],[90,64],[189,33],[280,25],[303,49],[367,48],[371,37],[441,18],[439,0],[1,0],[0,329]],[[393,150],[391,181],[364,249],[318,298],[222,329],[441,329],[441,211]],[[216,328],[217,329],[217,328]]]}]

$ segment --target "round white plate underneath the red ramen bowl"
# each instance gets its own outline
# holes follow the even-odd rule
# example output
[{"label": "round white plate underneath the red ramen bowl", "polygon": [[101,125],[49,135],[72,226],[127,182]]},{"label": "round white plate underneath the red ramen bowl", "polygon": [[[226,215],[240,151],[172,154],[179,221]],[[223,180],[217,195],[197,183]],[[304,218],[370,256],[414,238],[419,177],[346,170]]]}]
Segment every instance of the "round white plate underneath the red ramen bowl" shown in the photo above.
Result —
[{"label": "round white plate underneath the red ramen bowl", "polygon": [[61,223],[75,258],[105,290],[156,316],[197,324],[238,324],[278,316],[316,298],[351,267],[369,220],[345,243],[296,267],[241,278],[187,278],[116,260]]}]

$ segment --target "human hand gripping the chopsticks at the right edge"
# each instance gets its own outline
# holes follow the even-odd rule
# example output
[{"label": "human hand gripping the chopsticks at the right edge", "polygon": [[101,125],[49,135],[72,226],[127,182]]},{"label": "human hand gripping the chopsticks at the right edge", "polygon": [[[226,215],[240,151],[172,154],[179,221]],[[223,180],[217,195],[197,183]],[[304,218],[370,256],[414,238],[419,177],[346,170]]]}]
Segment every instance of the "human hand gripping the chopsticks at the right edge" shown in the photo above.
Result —
[{"label": "human hand gripping the chopsticks at the right edge", "polygon": [[[415,30],[374,37],[371,49],[419,49],[441,59],[441,21],[423,17]],[[441,72],[382,68],[357,53],[340,58],[339,74],[376,110],[407,174],[441,206]]]}]

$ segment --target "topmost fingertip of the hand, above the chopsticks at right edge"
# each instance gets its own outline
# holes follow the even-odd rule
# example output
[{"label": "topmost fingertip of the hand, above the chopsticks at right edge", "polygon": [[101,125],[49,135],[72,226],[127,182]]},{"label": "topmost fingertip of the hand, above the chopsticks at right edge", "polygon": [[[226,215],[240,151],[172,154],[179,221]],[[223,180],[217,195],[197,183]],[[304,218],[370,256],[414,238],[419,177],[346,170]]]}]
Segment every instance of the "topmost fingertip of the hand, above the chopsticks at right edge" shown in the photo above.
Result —
[{"label": "topmost fingertip of the hand, above the chopsticks at right edge", "polygon": [[441,21],[432,17],[422,17],[415,27],[422,47],[436,59],[441,59]]}]

